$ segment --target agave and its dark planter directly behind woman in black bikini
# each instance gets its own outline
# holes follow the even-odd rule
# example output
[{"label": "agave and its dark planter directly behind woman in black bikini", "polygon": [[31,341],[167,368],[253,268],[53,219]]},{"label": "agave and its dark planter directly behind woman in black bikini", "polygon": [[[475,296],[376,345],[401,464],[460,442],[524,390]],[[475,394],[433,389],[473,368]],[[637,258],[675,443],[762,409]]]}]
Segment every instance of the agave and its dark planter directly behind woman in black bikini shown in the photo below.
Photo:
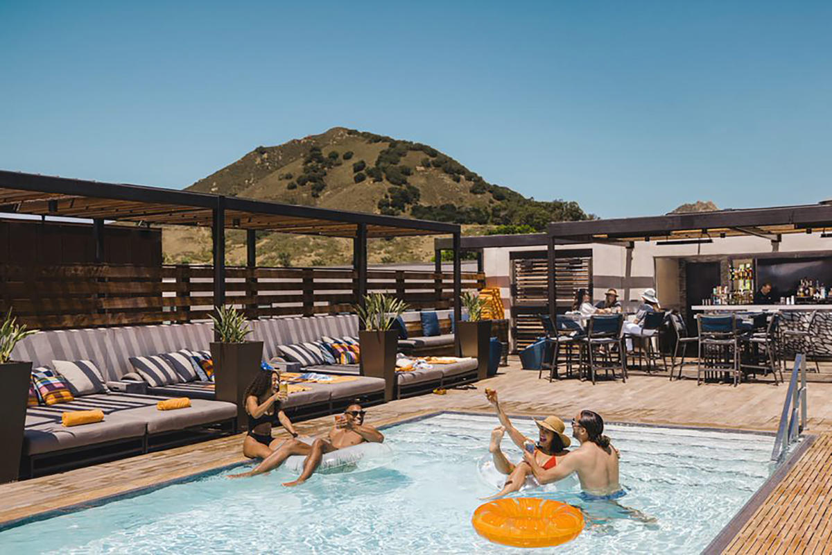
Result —
[{"label": "agave and its dark planter directly behind woman in black bikini", "polygon": [[247,341],[251,333],[245,315],[232,306],[215,307],[214,333],[217,341],[210,344],[214,359],[215,394],[218,401],[237,405],[237,426],[245,422],[245,388],[260,371],[263,342]]}]

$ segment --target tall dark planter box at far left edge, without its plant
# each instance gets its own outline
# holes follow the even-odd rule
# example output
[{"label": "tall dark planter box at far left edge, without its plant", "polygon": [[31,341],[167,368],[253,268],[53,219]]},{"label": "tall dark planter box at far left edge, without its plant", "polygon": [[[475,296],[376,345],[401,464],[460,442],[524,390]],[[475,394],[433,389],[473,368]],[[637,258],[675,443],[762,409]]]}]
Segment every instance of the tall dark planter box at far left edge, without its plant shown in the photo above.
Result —
[{"label": "tall dark planter box at far left edge, without its plant", "polygon": [[31,362],[0,364],[0,483],[14,482],[20,473],[23,426],[29,398]]}]

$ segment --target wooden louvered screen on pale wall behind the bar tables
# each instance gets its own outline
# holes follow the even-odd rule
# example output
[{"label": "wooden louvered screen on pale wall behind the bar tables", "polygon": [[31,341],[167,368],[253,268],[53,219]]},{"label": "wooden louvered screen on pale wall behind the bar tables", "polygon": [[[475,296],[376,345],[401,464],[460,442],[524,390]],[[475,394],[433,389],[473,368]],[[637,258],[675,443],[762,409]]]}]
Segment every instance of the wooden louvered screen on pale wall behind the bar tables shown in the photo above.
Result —
[{"label": "wooden louvered screen on pale wall behind the bar tables", "polygon": [[[575,291],[592,292],[592,250],[557,250],[557,312],[572,307]],[[549,313],[548,260],[545,250],[511,253],[512,350],[517,352],[543,335],[540,315]]]}]

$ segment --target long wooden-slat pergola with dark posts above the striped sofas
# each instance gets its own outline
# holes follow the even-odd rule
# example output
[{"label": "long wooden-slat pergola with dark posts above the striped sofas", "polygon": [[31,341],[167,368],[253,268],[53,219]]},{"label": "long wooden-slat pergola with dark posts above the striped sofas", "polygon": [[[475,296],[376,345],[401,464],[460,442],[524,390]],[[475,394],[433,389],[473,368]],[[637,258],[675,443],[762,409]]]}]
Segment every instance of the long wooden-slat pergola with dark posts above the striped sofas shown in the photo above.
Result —
[{"label": "long wooden-slat pergola with dark posts above the striped sofas", "polygon": [[103,252],[105,221],[210,228],[215,305],[225,304],[226,229],[246,230],[246,265],[250,268],[256,266],[258,230],[352,239],[359,302],[367,291],[369,238],[452,235],[453,310],[456,320],[462,318],[461,230],[456,224],[14,171],[0,171],[0,212],[92,220],[97,260]]}]

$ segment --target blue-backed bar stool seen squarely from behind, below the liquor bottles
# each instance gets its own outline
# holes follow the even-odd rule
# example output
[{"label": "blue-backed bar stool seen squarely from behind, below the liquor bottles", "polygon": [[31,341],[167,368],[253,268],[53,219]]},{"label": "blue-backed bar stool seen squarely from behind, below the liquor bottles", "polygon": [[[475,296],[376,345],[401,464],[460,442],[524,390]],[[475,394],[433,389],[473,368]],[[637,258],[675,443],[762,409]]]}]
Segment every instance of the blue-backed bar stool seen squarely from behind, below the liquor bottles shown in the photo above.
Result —
[{"label": "blue-backed bar stool seen squarely from behind, below the liquor bottles", "polygon": [[[700,315],[699,360],[696,363],[696,385],[708,371],[726,372],[740,383],[740,354],[735,315]],[[704,363],[704,365],[703,365]]]}]

